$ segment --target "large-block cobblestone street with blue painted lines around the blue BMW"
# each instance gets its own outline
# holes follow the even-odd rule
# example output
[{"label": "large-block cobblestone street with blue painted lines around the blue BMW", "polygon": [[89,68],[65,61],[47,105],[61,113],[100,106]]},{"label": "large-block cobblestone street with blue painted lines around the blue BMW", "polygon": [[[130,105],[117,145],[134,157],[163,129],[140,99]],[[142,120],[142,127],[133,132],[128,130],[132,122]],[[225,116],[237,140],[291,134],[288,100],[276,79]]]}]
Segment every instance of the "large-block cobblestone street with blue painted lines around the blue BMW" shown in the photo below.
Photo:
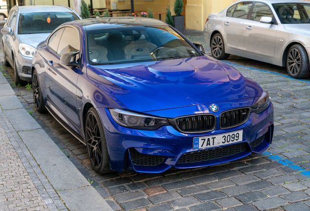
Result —
[{"label": "large-block cobblestone street with blue painted lines around the blue BMW", "polygon": [[[188,37],[203,42],[199,34]],[[269,91],[275,110],[271,147],[223,165],[160,174],[97,175],[85,146],[51,115],[33,109],[31,91],[13,84],[12,68],[3,72],[22,105],[116,211],[309,211],[310,81],[287,77],[283,67],[241,57],[225,62]]]}]

